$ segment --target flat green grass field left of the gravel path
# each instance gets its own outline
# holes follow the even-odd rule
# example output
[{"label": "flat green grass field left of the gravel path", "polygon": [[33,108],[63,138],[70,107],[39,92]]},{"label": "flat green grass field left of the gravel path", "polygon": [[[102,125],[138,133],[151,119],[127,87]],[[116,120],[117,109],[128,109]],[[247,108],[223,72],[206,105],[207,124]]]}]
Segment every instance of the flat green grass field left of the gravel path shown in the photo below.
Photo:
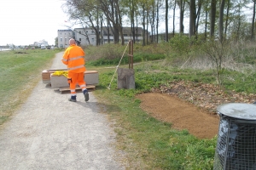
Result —
[{"label": "flat green grass field left of the gravel path", "polygon": [[26,100],[57,52],[42,49],[0,52],[0,124]]}]

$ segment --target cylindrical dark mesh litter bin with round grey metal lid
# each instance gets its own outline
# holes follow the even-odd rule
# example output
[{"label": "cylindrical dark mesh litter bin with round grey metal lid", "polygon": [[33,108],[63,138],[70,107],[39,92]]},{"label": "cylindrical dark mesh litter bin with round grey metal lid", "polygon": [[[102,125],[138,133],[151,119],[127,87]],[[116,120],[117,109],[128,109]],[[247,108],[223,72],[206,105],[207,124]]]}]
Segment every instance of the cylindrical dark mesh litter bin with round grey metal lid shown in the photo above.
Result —
[{"label": "cylindrical dark mesh litter bin with round grey metal lid", "polygon": [[220,122],[213,169],[256,170],[256,105],[217,107]]}]

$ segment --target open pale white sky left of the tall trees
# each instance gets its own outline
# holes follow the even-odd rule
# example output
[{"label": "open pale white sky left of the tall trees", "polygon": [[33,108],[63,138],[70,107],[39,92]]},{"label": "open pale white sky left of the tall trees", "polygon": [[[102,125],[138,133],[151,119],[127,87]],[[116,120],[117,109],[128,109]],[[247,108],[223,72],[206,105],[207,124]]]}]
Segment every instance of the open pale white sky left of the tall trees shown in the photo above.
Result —
[{"label": "open pale white sky left of the tall trees", "polygon": [[67,29],[61,0],[4,0],[0,3],[0,45],[55,44],[57,31]]}]

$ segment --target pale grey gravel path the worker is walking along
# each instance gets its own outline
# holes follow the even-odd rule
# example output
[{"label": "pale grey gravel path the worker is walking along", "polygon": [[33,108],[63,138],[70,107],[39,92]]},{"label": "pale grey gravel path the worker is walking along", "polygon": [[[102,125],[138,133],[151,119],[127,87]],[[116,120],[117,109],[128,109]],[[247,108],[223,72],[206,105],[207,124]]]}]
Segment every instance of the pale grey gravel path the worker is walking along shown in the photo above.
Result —
[{"label": "pale grey gravel path the worker is walking along", "polygon": [[[66,68],[62,53],[51,69]],[[0,132],[0,169],[125,169],[114,159],[115,134],[97,101],[59,94],[38,82],[26,104]]]}]

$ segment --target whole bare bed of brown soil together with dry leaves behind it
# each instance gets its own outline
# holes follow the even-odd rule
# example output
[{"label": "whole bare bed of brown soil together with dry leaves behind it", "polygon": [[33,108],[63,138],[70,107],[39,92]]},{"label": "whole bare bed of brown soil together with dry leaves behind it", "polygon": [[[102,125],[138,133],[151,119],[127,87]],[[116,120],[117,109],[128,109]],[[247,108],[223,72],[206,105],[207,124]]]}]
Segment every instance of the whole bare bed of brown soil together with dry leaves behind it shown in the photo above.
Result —
[{"label": "whole bare bed of brown soil together with dry leaves behind it", "polygon": [[139,94],[141,107],[154,118],[171,122],[173,128],[187,129],[199,139],[218,134],[217,106],[225,103],[253,103],[255,94],[227,93],[212,84],[171,82],[153,88],[152,93]]}]

